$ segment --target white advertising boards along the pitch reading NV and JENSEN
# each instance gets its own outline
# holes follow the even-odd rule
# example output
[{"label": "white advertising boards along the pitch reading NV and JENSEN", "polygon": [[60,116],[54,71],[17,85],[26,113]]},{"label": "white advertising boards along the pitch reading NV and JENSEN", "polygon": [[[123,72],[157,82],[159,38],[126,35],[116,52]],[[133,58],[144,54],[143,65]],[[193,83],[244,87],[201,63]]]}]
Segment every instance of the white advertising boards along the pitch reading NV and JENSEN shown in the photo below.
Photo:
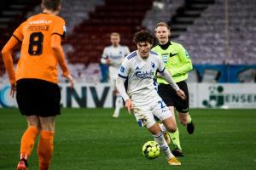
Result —
[{"label": "white advertising boards along the pitch reading NV and JENSEN", "polygon": [[[256,83],[188,83],[191,108],[256,109]],[[108,83],[60,83],[65,108],[112,108],[113,89]],[[17,107],[9,96],[9,84],[0,84],[0,107]]]}]

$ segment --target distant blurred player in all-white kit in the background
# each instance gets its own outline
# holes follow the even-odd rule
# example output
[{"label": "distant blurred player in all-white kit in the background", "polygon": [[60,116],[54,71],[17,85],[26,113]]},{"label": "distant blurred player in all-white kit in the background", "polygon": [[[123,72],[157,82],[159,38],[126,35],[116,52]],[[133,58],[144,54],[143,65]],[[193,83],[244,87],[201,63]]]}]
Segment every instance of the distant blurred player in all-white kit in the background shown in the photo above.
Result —
[{"label": "distant blurred player in all-white kit in the background", "polygon": [[123,99],[116,90],[115,81],[118,77],[119,67],[127,54],[130,54],[130,50],[127,46],[120,45],[120,35],[118,32],[112,32],[110,34],[111,46],[104,48],[102,54],[102,64],[108,65],[110,84],[113,88],[113,96],[115,96],[115,109],[113,111],[113,117],[119,117],[120,109],[123,107]]}]

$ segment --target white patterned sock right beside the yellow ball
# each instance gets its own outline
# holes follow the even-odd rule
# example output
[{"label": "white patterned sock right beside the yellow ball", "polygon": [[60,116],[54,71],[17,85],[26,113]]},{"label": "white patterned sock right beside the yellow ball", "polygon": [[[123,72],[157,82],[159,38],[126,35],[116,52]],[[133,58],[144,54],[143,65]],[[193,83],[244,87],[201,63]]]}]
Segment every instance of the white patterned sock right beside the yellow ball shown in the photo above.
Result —
[{"label": "white patterned sock right beside the yellow ball", "polygon": [[172,152],[168,146],[168,144],[166,143],[166,140],[164,138],[164,134],[163,133],[159,133],[154,136],[154,141],[157,142],[160,145],[160,150],[163,151],[164,155],[166,156],[166,160],[170,160],[173,155]]}]

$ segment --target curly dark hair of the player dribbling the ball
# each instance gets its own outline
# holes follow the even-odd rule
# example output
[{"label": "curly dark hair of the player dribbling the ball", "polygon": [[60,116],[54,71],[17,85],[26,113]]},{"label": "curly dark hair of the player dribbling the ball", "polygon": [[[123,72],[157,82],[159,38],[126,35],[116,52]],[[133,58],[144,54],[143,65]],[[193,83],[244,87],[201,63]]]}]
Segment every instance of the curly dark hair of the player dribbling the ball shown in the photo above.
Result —
[{"label": "curly dark hair of the player dribbling the ball", "polygon": [[133,37],[133,42],[136,44],[139,42],[149,42],[150,44],[153,44],[154,36],[146,30],[137,31]]}]

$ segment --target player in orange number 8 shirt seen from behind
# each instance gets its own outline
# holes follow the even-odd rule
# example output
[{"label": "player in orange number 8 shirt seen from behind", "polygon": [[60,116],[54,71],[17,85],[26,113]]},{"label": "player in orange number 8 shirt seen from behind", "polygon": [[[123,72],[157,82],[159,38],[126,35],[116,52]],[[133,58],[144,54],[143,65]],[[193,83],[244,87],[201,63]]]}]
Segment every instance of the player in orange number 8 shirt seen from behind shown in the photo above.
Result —
[{"label": "player in orange number 8 shirt seen from behind", "polygon": [[[65,36],[65,21],[57,14],[61,0],[43,0],[42,14],[23,22],[3,47],[4,65],[9,74],[11,95],[16,99],[28,127],[20,143],[18,170],[27,169],[27,160],[38,136],[39,170],[49,169],[53,154],[55,116],[61,114],[61,91],[58,86],[57,64],[61,66],[73,88],[73,77],[68,73],[61,38]],[[21,44],[20,59],[15,71],[12,51]]]}]

